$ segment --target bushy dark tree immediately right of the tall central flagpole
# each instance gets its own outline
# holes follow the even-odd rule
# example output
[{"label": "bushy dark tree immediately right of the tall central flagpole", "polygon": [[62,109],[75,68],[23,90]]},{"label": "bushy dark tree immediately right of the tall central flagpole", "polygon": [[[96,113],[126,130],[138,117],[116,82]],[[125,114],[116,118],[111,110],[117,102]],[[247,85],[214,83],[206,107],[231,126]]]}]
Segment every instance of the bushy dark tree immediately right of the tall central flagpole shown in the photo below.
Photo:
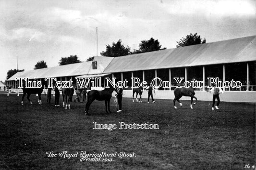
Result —
[{"label": "bushy dark tree immediately right of the tall central flagpole", "polygon": [[131,52],[130,47],[124,47],[122,44],[122,40],[118,40],[116,43],[113,42],[112,46],[106,45],[106,51],[102,51],[100,54],[102,56],[108,57],[119,57],[123,55],[128,55]]}]

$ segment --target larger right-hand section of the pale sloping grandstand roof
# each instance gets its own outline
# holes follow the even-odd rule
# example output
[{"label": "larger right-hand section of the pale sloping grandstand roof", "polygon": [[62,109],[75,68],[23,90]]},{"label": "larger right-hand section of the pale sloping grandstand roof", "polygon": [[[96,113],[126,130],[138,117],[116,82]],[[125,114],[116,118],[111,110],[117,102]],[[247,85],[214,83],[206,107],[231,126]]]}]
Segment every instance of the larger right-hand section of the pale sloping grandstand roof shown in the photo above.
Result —
[{"label": "larger right-hand section of the pale sloping grandstand roof", "polygon": [[115,57],[104,73],[256,60],[256,36]]}]

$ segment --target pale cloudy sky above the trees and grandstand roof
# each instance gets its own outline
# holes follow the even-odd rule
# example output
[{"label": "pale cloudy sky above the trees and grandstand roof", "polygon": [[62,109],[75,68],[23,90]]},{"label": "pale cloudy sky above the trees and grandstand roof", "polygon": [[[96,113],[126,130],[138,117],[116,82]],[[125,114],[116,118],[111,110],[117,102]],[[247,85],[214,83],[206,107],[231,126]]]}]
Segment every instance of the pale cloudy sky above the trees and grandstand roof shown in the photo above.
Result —
[{"label": "pale cloudy sky above the trees and grandstand roof", "polygon": [[256,0],[0,0],[0,11],[1,81],[16,58],[25,70],[86,61],[119,39],[133,51],[151,37],[171,49],[195,32],[206,42],[256,35]]}]

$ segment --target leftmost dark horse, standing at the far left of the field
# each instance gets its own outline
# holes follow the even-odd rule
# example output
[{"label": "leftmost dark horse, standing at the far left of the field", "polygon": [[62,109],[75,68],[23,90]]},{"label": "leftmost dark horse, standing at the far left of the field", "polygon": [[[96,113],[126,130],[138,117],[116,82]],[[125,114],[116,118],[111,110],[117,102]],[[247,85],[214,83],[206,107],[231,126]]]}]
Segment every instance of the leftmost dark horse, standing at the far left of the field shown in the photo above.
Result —
[{"label": "leftmost dark horse, standing at the far left of the field", "polygon": [[41,101],[41,94],[43,92],[43,88],[44,88],[44,85],[47,85],[47,82],[46,81],[42,81],[42,87],[40,88],[26,88],[25,87],[25,83],[23,84],[23,96],[22,96],[22,101],[21,101],[21,105],[23,105],[23,100],[24,100],[24,97],[26,96],[27,94],[27,100],[29,101],[29,103],[32,105],[32,102],[31,100],[29,99],[30,95],[31,94],[37,94],[38,95],[38,104],[41,105],[42,104],[42,101]]}]

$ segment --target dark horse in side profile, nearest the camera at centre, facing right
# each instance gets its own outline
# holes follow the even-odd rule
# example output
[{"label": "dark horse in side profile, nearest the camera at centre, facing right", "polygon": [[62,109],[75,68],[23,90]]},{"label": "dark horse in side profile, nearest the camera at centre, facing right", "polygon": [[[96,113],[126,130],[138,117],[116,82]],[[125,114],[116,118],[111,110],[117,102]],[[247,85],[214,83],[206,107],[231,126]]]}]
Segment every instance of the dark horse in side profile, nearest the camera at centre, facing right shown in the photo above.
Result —
[{"label": "dark horse in side profile, nearest the camera at centre, facing right", "polygon": [[[117,91],[117,88],[113,88],[110,86],[110,88],[98,91],[98,90],[91,90],[87,93],[87,103],[85,105],[85,115],[89,115],[89,106],[92,104],[94,100],[99,100],[99,101],[105,101],[105,106],[106,106],[106,113],[111,113],[110,111],[110,99],[112,97],[113,91]],[[108,107],[108,110],[107,110]]]}]

